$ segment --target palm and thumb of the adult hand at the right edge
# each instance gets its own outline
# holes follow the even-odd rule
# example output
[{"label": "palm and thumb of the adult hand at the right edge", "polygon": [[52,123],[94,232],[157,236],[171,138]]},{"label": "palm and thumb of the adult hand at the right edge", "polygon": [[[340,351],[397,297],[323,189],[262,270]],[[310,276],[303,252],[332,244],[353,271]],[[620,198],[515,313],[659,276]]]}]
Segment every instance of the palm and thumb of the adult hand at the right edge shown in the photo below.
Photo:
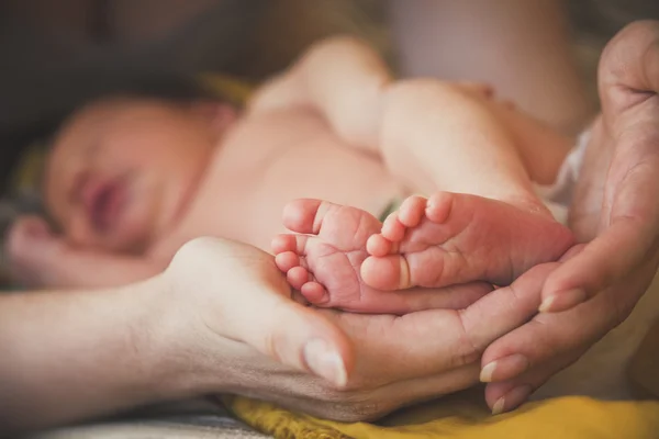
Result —
[{"label": "palm and thumb of the adult hand at the right edge", "polygon": [[571,227],[580,240],[590,243],[548,279],[545,296],[571,289],[593,296],[657,252],[659,95],[638,91],[650,85],[623,87],[623,80],[634,83],[635,78],[617,75],[614,68],[600,75],[604,110],[593,124],[571,206]]}]

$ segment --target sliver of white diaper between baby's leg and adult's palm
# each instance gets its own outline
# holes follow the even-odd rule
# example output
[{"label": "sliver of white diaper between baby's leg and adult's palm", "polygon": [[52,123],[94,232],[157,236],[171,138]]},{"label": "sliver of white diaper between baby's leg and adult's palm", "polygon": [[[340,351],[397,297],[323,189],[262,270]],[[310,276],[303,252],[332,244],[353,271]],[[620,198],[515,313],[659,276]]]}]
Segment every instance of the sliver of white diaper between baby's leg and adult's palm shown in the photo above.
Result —
[{"label": "sliver of white diaper between baby's leg and adult's palm", "polygon": [[554,217],[561,224],[568,223],[568,209],[572,201],[574,185],[579,179],[583,155],[590,140],[590,131],[583,132],[577,138],[577,145],[570,151],[566,161],[558,171],[556,182],[550,185],[535,184],[536,193],[543,199],[545,205],[551,211]]}]

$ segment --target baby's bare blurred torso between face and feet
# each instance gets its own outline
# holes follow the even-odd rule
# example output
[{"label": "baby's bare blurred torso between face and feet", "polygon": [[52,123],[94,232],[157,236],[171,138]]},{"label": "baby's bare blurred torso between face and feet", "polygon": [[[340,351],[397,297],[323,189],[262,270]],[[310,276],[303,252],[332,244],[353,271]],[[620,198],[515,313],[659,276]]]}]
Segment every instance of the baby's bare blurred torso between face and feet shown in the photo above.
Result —
[{"label": "baby's bare blurred torso between face and feet", "polygon": [[177,229],[158,243],[171,254],[197,236],[221,236],[269,249],[286,232],[287,202],[315,198],[379,216],[402,185],[376,157],[345,144],[308,110],[247,116],[222,140]]}]

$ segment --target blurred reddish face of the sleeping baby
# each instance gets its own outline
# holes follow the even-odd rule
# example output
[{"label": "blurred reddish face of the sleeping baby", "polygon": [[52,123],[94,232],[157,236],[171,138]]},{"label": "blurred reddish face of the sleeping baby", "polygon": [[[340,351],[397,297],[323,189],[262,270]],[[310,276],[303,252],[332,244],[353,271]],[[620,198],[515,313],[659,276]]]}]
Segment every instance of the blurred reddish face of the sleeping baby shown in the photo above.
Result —
[{"label": "blurred reddish face of the sleeping baby", "polygon": [[55,140],[44,188],[65,237],[80,247],[142,252],[166,233],[221,135],[209,114],[138,99],[101,101],[76,114]]}]

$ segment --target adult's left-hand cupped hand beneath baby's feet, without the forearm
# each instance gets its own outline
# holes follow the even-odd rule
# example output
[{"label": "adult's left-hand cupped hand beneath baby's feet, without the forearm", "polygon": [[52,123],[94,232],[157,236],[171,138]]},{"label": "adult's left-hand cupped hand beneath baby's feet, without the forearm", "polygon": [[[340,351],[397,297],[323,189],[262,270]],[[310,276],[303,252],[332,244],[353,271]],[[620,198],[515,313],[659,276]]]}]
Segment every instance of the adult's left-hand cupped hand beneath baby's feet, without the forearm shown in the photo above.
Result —
[{"label": "adult's left-hand cupped hand beneath baby's feet, without the forearm", "polygon": [[463,311],[348,314],[292,300],[272,256],[200,238],[181,248],[161,278],[172,300],[161,322],[171,357],[185,359],[198,393],[365,420],[476,384],[482,350],[536,312],[550,269],[538,267]]}]

